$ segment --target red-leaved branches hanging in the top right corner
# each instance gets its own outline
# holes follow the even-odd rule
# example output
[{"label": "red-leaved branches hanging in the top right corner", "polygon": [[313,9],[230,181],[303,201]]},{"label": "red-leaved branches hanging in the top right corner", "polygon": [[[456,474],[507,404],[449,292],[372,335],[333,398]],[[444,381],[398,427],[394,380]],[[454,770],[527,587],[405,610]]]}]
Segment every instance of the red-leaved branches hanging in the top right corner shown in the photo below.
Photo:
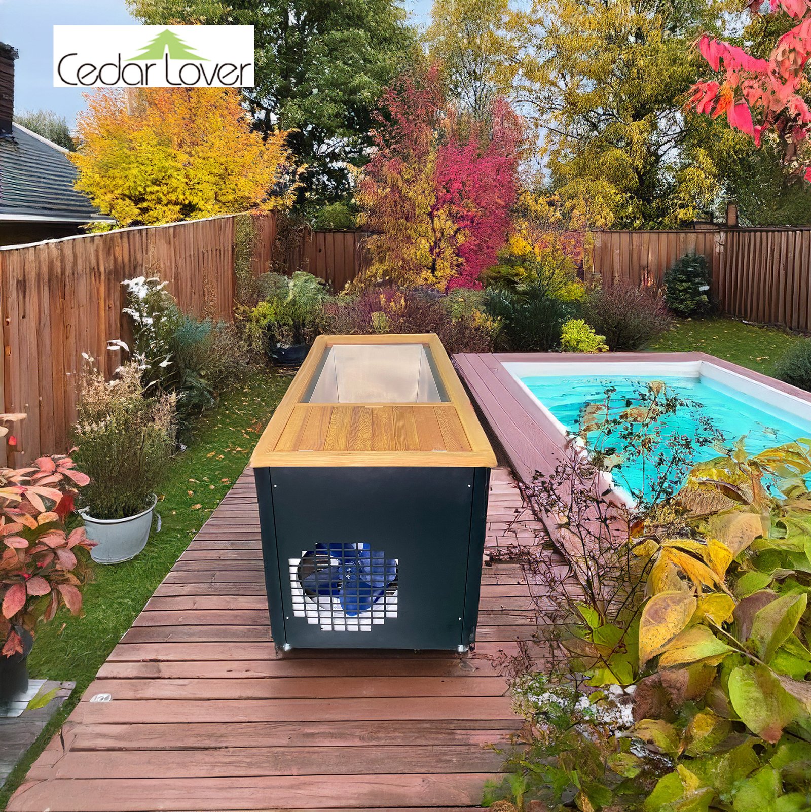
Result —
[{"label": "red-leaved branches hanging in the top right corner", "polygon": [[[752,136],[759,146],[767,133],[776,137],[786,162],[811,180],[811,158],[806,139],[811,110],[806,92],[805,64],[811,56],[811,6],[809,0],[769,0],[771,14],[787,14],[796,24],[779,38],[768,59],[753,57],[728,42],[701,37],[701,55],[720,81],[699,82],[689,104],[698,112],[717,117],[726,114],[731,127]],[[759,14],[762,3],[753,0],[750,10]]]}]

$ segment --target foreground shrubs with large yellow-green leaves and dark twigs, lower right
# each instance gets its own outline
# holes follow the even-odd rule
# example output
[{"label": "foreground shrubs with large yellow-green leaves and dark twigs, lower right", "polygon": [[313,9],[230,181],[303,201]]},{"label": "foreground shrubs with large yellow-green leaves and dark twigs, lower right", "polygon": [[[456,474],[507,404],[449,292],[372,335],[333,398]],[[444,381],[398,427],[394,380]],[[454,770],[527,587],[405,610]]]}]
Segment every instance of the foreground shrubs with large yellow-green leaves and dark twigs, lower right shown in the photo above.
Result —
[{"label": "foreground shrubs with large yellow-green leaves and dark twigs, lower right", "polygon": [[[619,418],[629,444],[614,468],[627,450],[647,456],[652,474],[672,468],[670,452],[649,451],[669,408],[662,382],[650,393]],[[592,406],[584,417],[607,413]],[[671,439],[683,461],[688,435]],[[809,474],[811,441],[798,440],[756,456],[740,443],[693,465],[675,494],[634,508],[608,502],[593,460],[574,449],[538,478],[533,508],[559,516],[579,551],[576,584],[554,559],[533,571],[557,608],[552,638],[565,662],[552,678],[516,680],[528,746],[487,801],[811,809]]]}]

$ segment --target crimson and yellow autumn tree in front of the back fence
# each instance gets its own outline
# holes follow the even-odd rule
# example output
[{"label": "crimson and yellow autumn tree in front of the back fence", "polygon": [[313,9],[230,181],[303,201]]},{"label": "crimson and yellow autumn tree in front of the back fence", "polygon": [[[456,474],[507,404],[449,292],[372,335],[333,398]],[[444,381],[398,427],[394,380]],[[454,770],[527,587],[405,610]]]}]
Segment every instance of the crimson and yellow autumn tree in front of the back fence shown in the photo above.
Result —
[{"label": "crimson and yellow autumn tree in front of the back fence", "polygon": [[438,67],[387,89],[377,149],[358,185],[371,272],[404,283],[478,287],[507,239],[523,125],[503,99],[485,119],[448,106]]}]

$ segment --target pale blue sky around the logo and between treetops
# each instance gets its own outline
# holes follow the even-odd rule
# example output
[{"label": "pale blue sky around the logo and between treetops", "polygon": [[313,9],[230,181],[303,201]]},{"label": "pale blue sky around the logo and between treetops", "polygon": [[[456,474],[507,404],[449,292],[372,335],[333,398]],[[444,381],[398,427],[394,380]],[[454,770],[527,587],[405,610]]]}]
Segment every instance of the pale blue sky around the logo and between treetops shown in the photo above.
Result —
[{"label": "pale blue sky around the logo and between treetops", "polygon": [[[431,0],[402,0],[424,24]],[[82,92],[54,88],[54,25],[136,24],[124,0],[0,0],[0,40],[19,50],[15,110],[55,110],[73,127],[84,106]]]}]

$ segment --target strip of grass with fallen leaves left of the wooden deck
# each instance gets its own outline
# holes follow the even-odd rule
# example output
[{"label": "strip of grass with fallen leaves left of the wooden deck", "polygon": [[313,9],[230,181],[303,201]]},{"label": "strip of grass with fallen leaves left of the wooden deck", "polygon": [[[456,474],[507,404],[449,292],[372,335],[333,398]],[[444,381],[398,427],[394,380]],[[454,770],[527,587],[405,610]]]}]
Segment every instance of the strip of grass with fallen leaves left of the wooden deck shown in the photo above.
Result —
[{"label": "strip of grass with fallen leaves left of the wooden deck", "polygon": [[198,424],[196,438],[175,459],[159,490],[156,510],[162,520],[160,532],[153,532],[136,559],[94,567],[95,579],[84,589],[84,616],[73,617],[63,610],[37,630],[28,658],[31,676],[73,680],[76,689],[0,788],[0,809],[6,807],[28,767],[78,702],[119,638],[242,473],[291,380],[290,374],[257,373],[224,396]]}]

